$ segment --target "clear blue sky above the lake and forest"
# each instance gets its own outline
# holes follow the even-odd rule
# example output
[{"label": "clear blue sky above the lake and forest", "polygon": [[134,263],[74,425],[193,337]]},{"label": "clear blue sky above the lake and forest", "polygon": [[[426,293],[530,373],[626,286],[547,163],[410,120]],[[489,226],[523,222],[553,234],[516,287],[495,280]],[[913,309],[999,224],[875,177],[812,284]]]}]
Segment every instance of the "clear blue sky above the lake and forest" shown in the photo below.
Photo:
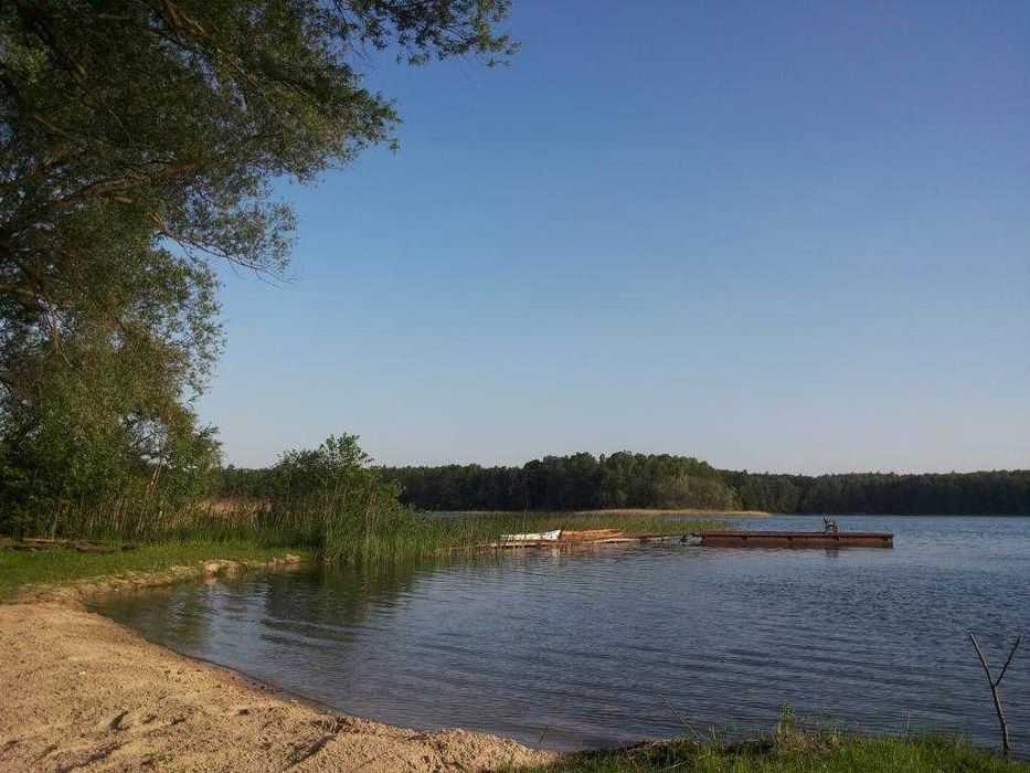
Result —
[{"label": "clear blue sky above the lake and forest", "polygon": [[1030,467],[1030,4],[516,0],[225,273],[226,458]]}]

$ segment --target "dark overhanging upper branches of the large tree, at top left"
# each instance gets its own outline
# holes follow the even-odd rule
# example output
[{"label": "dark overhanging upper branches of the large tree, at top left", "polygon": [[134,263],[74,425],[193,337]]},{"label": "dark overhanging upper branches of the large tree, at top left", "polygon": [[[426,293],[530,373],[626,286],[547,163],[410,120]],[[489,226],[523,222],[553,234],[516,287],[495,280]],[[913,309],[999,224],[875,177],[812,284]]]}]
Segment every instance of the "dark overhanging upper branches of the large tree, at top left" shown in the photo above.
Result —
[{"label": "dark overhanging upper branches of the large tree, at top left", "polygon": [[[287,257],[269,181],[390,138],[355,62],[511,53],[507,0],[178,0],[0,8],[6,289],[32,307],[121,234],[258,268]],[[114,223],[108,223],[114,224]],[[96,237],[87,241],[86,236]],[[17,260],[14,256],[17,255]]]}]

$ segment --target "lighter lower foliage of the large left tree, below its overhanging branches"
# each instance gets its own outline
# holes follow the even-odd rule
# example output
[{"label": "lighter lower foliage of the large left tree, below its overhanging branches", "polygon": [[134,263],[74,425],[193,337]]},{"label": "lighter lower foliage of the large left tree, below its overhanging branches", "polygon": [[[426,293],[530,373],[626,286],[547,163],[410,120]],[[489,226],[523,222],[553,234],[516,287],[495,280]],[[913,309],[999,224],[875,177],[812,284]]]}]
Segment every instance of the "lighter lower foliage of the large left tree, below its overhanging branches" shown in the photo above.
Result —
[{"label": "lighter lower foliage of the large left tree, below its overhanging branches", "polygon": [[63,533],[73,511],[181,499],[216,460],[184,401],[217,351],[211,273],[121,236],[34,309],[0,296],[0,528]]}]

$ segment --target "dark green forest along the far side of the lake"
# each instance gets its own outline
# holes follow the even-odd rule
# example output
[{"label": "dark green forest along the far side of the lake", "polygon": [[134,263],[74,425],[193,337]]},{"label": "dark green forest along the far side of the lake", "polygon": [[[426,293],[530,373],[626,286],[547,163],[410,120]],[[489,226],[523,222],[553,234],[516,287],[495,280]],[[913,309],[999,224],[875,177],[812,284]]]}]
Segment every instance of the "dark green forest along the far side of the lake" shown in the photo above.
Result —
[{"label": "dark green forest along the far side of the lake", "polygon": [[[520,467],[380,467],[425,510],[698,508],[797,513],[1030,515],[1030,470],[778,475],[668,454],[545,456]],[[267,470],[227,467],[223,496],[263,496]]]}]

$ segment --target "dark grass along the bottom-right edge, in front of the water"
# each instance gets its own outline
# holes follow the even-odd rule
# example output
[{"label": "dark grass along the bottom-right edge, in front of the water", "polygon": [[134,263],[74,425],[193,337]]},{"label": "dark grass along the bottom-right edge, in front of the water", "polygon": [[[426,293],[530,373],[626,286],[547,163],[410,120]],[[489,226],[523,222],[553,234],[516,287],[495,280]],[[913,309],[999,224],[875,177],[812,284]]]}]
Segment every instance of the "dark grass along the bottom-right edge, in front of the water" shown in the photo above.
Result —
[{"label": "dark grass along the bottom-right edge, in front of the water", "polygon": [[617,751],[581,752],[542,767],[511,773],[1026,773],[1030,764],[1004,760],[943,735],[915,738],[777,733],[741,743],[671,741]]}]

